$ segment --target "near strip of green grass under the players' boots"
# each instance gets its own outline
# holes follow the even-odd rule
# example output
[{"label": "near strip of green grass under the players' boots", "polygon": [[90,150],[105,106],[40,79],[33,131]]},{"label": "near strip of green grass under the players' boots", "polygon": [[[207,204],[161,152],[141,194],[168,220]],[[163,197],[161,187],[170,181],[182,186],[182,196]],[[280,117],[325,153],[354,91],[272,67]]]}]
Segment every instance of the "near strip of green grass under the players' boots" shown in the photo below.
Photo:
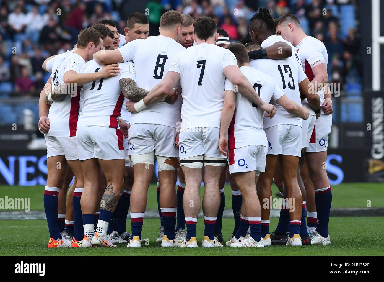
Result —
[{"label": "near strip of green grass under the players' boots", "polygon": [[[276,218],[271,219],[270,231],[277,224]],[[271,246],[264,248],[199,248],[180,249],[162,248],[156,244],[158,235],[159,219],[144,219],[143,237],[149,238],[149,246],[140,249],[128,249],[126,244],[120,244],[119,248],[56,248],[48,249],[48,228],[44,220],[3,220],[0,221],[0,255],[19,256],[77,256],[77,255],[303,255],[303,256],[365,256],[383,255],[384,241],[382,232],[384,221],[380,217],[333,217],[331,218],[329,230],[331,234],[331,245],[286,247]],[[129,221],[128,221],[129,224]],[[199,219],[197,224],[197,239],[203,236],[204,221]],[[223,219],[223,234],[228,239],[233,230],[233,219]],[[26,242],[26,236],[28,242]]]}]

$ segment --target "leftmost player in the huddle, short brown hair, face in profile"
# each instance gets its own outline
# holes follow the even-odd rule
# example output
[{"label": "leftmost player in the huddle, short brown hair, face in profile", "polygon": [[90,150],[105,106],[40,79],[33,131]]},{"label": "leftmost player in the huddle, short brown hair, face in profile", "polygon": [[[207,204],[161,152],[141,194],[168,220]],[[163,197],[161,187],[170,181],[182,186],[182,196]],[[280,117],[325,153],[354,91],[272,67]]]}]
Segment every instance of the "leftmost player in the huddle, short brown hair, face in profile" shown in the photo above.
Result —
[{"label": "leftmost player in the huddle, short brown hair, face in profile", "polygon": [[[44,203],[46,206],[47,221],[50,222],[53,215],[55,213],[56,215],[55,223],[48,223],[48,228],[51,230],[51,239],[48,246],[51,245],[55,247],[58,245],[55,239],[53,239],[55,237],[59,238],[57,235],[58,227],[56,229],[58,225],[57,198],[55,199],[55,197],[58,196],[58,187],[62,186],[67,163],[76,177],[76,186],[78,186],[76,188],[82,190],[84,187],[83,173],[75,146],[80,95],[78,92],[76,92],[75,95],[62,96],[62,94],[59,94],[59,96],[61,95],[60,99],[58,99],[60,101],[54,101],[53,98],[56,98],[55,86],[61,85],[66,89],[67,93],[69,93],[68,90],[71,88],[71,85],[75,83],[74,74],[77,74],[85,61],[91,59],[93,54],[101,48],[103,48],[102,35],[92,28],[87,28],[80,32],[78,36],[78,48],[74,52],[67,51],[66,53],[55,56],[55,58],[52,59],[53,62],[50,63],[52,66],[51,85],[53,93],[46,93],[46,102],[51,104],[51,106],[48,114],[50,129],[45,134],[48,180],[45,189]],[[90,76],[88,76],[88,79],[90,79]],[[52,237],[52,235],[54,237]],[[62,244],[62,246],[65,245]]]}]

